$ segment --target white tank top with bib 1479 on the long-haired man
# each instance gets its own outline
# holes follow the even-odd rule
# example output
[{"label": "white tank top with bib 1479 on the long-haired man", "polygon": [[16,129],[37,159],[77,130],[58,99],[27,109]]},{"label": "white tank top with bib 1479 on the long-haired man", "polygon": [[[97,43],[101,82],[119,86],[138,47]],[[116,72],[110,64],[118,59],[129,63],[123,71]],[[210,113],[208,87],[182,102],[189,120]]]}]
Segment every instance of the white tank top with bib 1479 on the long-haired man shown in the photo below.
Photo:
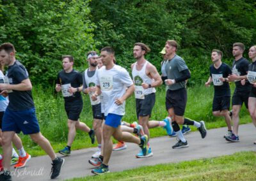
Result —
[{"label": "white tank top with bib 1479 on the long-haired man", "polygon": [[148,61],[145,62],[143,68],[140,71],[136,69],[137,62],[134,64],[132,68],[132,80],[134,81],[135,84],[134,94],[136,99],[144,99],[145,95],[156,92],[156,89],[154,87],[143,89],[143,87],[141,86],[141,83],[152,84],[152,82],[154,82],[154,79],[146,75],[147,64]]}]

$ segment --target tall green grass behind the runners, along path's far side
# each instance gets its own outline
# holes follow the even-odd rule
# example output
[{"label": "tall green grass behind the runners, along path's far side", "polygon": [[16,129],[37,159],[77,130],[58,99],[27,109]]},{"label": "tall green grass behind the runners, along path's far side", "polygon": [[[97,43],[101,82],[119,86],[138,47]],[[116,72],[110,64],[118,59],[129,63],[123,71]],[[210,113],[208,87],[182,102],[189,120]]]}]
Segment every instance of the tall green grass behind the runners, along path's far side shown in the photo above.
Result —
[{"label": "tall green grass behind the runners, along path's far side", "polygon": [[[232,87],[234,89],[234,87]],[[207,129],[225,127],[223,118],[212,116],[212,97],[213,87],[205,88],[203,85],[188,88],[188,103],[186,106],[185,116],[195,120],[205,120]],[[42,134],[51,142],[56,152],[67,144],[67,115],[64,109],[64,101],[60,94],[55,94],[54,89],[44,89],[36,86],[33,88],[33,98],[36,106],[36,115],[40,124]],[[92,127],[92,108],[88,96],[83,96],[84,107],[80,115],[82,122]],[[123,120],[133,122],[136,120],[134,96],[127,100],[126,113]],[[164,87],[157,88],[156,104],[154,106],[152,117],[150,120],[163,120],[166,117],[165,110],[165,91]],[[241,112],[241,124],[251,122],[250,116],[243,106]],[[195,127],[191,127],[195,131]],[[165,136],[166,132],[162,128],[150,129],[152,138],[157,136]],[[38,147],[29,136],[19,134],[22,139],[24,148],[32,156],[42,156],[45,152]],[[76,138],[72,144],[72,150],[96,147],[97,143],[92,145],[87,133],[77,131]],[[1,149],[1,148],[0,148]]]}]

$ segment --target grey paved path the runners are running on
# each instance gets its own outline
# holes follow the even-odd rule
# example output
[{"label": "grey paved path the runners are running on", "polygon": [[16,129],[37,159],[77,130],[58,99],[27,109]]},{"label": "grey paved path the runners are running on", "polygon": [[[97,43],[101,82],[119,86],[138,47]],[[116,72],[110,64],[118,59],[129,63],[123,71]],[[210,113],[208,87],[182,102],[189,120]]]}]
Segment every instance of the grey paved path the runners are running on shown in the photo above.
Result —
[{"label": "grey paved path the runners are running on", "polygon": [[[139,147],[132,143],[127,143],[127,150],[116,151],[112,153],[109,163],[109,169],[113,171],[122,171],[140,166],[177,163],[180,161],[189,161],[208,157],[218,157],[234,154],[240,151],[256,151],[256,129],[253,124],[244,124],[239,127],[238,143],[229,143],[223,138],[226,128],[211,129],[207,132],[205,139],[202,139],[200,133],[193,132],[186,135],[189,147],[172,149],[177,141],[175,138],[164,136],[150,140],[153,157],[136,159],[135,155]],[[85,177],[93,175],[91,170],[93,166],[88,163],[88,159],[95,152],[95,148],[72,151],[72,156],[65,157],[65,165],[58,180],[67,178]],[[48,156],[33,157],[26,168],[13,171],[13,180],[50,180],[51,161]]]}]

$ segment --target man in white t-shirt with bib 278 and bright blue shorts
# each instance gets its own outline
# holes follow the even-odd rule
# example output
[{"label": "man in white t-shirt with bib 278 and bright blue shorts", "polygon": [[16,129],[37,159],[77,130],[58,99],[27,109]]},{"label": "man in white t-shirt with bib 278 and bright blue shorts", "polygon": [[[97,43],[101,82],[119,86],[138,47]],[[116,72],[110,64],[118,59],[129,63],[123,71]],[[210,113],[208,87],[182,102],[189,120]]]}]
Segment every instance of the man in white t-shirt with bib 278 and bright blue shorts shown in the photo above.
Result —
[{"label": "man in white t-shirt with bib 278 and bright blue shorts", "polygon": [[[115,52],[111,47],[102,48],[100,55],[104,66],[99,69],[97,76],[96,92],[92,95],[93,101],[101,93],[104,99],[105,123],[103,126],[104,148],[102,164],[92,170],[92,173],[101,175],[109,172],[108,163],[112,152],[113,143],[111,136],[116,140],[123,140],[138,144],[143,150],[143,154],[148,152],[147,135],[137,138],[131,133],[122,132],[120,128],[122,116],[125,113],[125,99],[134,92],[129,73],[113,62]],[[126,89],[127,88],[127,89]]]}]

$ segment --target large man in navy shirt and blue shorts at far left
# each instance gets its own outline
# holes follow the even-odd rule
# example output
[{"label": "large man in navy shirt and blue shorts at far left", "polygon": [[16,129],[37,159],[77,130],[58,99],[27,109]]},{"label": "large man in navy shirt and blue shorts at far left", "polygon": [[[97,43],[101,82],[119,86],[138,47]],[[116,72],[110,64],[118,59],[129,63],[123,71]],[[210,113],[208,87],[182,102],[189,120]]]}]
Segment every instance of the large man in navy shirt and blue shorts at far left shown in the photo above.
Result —
[{"label": "large man in navy shirt and blue shorts at far left", "polygon": [[12,180],[10,175],[12,140],[15,133],[20,133],[20,131],[23,134],[29,134],[31,139],[38,143],[51,157],[51,178],[57,178],[60,175],[64,159],[56,157],[51,144],[40,133],[28,71],[19,61],[16,61],[15,48],[11,43],[0,45],[0,62],[8,66],[7,76],[10,82],[10,84],[0,83],[0,90],[2,90],[0,94],[4,95],[8,92],[7,90],[12,90],[12,92],[8,93],[10,102],[4,112],[2,123],[4,171],[0,175],[0,180]]}]

